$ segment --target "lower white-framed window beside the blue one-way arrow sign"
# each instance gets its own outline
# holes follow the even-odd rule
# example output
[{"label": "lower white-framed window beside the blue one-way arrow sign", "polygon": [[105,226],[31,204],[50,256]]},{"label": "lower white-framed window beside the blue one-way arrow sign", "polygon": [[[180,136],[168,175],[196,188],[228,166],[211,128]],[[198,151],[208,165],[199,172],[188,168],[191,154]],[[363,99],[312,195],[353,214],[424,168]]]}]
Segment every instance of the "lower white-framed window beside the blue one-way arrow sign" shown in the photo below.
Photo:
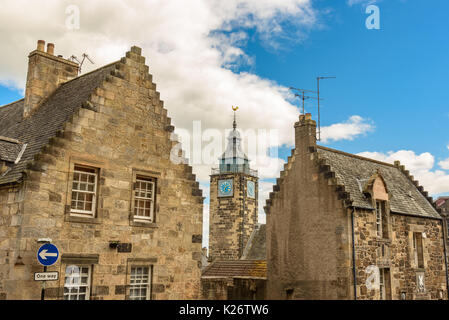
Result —
[{"label": "lower white-framed window beside the blue one-way arrow sign", "polygon": [[70,265],[65,269],[64,300],[89,300],[90,266]]}]

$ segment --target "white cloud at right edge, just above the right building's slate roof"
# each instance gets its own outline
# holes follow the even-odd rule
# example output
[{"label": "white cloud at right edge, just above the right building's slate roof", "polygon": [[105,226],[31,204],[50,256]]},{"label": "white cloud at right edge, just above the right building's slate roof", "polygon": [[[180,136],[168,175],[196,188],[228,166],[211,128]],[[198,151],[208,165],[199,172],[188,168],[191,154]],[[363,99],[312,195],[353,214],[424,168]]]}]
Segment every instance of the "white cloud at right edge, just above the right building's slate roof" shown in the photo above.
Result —
[{"label": "white cloud at right edge, just above the right building's slate roof", "polygon": [[[434,169],[435,158],[429,152],[416,154],[411,150],[399,150],[387,153],[361,152],[358,155],[388,163],[399,160],[430,194],[449,192],[449,172]],[[445,162],[442,162],[439,163],[440,167],[448,170],[449,167],[444,167]]]}]

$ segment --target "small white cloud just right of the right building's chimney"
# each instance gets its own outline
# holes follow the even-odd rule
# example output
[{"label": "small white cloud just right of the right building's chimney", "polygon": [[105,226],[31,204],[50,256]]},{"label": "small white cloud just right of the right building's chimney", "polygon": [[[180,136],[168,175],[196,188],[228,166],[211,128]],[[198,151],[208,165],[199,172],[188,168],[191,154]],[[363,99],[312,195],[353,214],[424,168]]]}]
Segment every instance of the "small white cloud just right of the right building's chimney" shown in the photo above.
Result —
[{"label": "small white cloud just right of the right building's chimney", "polygon": [[321,141],[327,143],[337,140],[354,140],[356,137],[366,134],[374,129],[374,125],[368,120],[354,115],[346,122],[335,123],[321,128]]}]

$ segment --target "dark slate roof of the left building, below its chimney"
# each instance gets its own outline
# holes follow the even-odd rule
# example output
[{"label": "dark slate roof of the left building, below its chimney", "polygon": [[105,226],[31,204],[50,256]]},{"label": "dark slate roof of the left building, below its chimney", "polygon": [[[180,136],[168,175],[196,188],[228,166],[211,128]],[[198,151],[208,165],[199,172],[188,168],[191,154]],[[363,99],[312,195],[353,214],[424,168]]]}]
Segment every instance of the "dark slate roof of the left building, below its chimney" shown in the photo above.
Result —
[{"label": "dark slate roof of the left building, below its chimney", "polygon": [[115,64],[103,66],[62,84],[26,118],[22,116],[23,99],[0,107],[0,136],[27,144],[20,162],[0,177],[0,185],[22,178],[27,164],[89,99],[95,88],[115,69]]}]

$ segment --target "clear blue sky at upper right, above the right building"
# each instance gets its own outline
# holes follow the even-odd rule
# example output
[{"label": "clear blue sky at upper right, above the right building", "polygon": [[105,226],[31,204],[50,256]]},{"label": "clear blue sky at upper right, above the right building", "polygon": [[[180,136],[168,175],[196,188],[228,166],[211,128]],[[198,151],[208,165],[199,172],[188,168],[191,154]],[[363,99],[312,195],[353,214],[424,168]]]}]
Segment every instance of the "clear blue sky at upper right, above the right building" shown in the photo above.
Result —
[{"label": "clear blue sky at upper right, above the right building", "polygon": [[[357,114],[375,128],[354,140],[328,142],[329,147],[351,153],[430,152],[436,162],[448,158],[449,2],[378,3],[380,30],[366,29],[366,6],[336,3],[315,2],[328,10],[326,26],[304,42],[282,43],[281,51],[266,48],[253,34],[247,47],[256,61],[252,71],[310,90],[316,90],[317,76],[337,76],[321,82],[321,124]],[[307,111],[316,115],[316,102],[310,101]],[[286,159],[290,148],[280,154]]]}]

